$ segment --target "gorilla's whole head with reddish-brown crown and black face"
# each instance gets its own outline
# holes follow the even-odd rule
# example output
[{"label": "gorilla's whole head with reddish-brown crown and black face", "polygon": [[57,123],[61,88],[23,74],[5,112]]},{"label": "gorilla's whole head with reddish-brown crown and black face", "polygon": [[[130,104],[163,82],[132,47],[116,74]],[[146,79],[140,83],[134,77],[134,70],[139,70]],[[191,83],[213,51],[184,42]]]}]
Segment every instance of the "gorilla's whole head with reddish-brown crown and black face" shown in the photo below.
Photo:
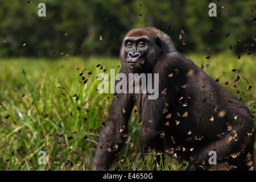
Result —
[{"label": "gorilla's whole head with reddish-brown crown and black face", "polygon": [[120,58],[132,73],[148,73],[162,51],[162,42],[150,28],[136,28],[123,39]]}]

